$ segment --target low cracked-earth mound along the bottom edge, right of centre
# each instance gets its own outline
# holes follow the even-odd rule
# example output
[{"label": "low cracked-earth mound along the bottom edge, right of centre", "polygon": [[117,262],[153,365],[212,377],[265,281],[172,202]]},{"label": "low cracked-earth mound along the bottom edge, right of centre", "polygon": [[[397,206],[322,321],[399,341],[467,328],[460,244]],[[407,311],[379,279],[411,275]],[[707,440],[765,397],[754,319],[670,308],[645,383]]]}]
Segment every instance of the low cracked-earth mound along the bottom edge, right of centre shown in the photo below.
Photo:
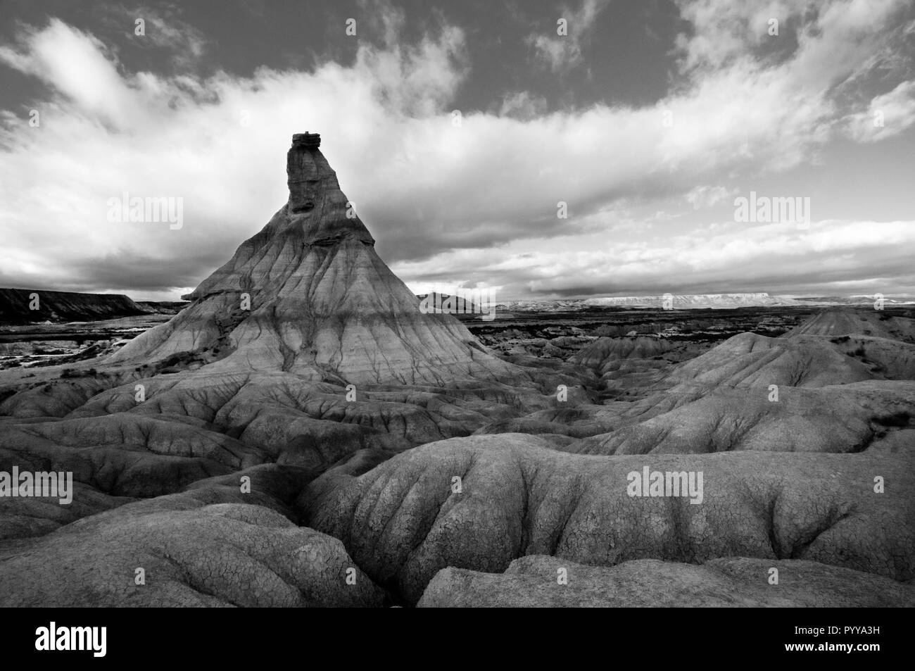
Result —
[{"label": "low cracked-earth mound along the bottom edge, right of centre", "polygon": [[[778,590],[761,576],[780,575]],[[565,570],[566,584],[557,580]],[[879,608],[915,606],[915,587],[798,559],[725,557],[704,564],[634,559],[615,567],[560,557],[515,559],[504,573],[443,568],[420,608]]]}]

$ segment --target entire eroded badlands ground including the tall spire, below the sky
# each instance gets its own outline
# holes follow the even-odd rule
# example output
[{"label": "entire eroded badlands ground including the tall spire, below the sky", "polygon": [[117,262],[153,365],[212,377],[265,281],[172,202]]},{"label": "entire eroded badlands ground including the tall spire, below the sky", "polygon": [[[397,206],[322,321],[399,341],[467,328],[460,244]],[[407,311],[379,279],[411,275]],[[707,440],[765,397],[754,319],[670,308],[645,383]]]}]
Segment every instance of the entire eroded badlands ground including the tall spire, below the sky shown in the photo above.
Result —
[{"label": "entire eroded badlands ground including the tall spire, below the sky", "polygon": [[0,605],[915,605],[915,310],[429,314],[319,144],[186,303],[0,297]]}]

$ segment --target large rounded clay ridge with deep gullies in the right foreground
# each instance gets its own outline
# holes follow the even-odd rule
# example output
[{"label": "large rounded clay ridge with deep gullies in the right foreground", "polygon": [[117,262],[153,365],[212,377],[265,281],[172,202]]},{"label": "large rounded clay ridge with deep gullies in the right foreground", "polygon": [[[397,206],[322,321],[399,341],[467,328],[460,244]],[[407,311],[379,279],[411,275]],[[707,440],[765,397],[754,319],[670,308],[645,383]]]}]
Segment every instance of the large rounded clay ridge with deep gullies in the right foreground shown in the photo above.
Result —
[{"label": "large rounded clay ridge with deep gullies in the right foreground", "polygon": [[[309,526],[343,540],[371,579],[414,602],[442,568],[502,572],[526,555],[605,567],[641,558],[805,559],[909,581],[913,457],[591,457],[533,436],[474,436],[411,449],[358,476],[328,471],[302,505]],[[629,473],[646,466],[703,472],[702,503],[630,496]],[[890,473],[893,491],[876,494],[874,476]]]}]

